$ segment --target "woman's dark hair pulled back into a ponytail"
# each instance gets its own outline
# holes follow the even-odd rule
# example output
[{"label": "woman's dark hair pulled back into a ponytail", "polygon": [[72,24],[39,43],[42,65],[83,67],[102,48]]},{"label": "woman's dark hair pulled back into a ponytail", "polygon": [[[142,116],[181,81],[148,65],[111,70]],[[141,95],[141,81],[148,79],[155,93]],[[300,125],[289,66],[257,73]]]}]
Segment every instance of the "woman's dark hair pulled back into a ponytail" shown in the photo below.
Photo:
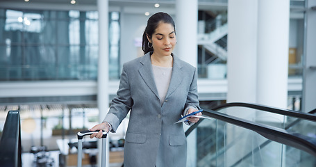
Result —
[{"label": "woman's dark hair pulled back into a ponytail", "polygon": [[147,39],[147,35],[151,39],[160,22],[172,24],[172,26],[174,26],[174,31],[176,31],[174,19],[172,19],[172,17],[167,13],[155,13],[149,17],[146,29],[142,35],[142,51],[144,51],[144,54],[147,54],[149,51],[153,51],[153,47],[148,46],[149,40]]}]

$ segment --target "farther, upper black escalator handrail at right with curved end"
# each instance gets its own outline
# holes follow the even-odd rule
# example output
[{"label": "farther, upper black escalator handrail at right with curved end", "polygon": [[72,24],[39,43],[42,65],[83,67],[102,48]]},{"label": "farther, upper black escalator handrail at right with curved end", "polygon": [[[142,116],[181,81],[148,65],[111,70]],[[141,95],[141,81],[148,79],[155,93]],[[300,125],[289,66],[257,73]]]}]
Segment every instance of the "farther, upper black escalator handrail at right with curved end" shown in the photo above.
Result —
[{"label": "farther, upper black escalator handrail at right with curved end", "polygon": [[219,106],[213,107],[212,110],[218,111],[219,109],[224,109],[224,108],[228,108],[228,107],[236,107],[236,106],[243,106],[243,107],[247,107],[247,108],[251,108],[251,109],[258,109],[258,110],[262,110],[262,111],[267,111],[269,113],[278,113],[278,114],[281,114],[283,116],[292,116],[295,118],[301,118],[304,120],[310,120],[310,121],[316,122],[316,116],[313,115],[313,113],[315,113],[316,110],[313,110],[313,112],[309,112],[309,113],[301,113],[301,112],[297,112],[297,111],[291,111],[288,109],[278,109],[278,108],[271,107],[271,106],[263,106],[260,104],[250,104],[250,103],[242,103],[242,102],[232,102],[232,103],[221,104]]}]

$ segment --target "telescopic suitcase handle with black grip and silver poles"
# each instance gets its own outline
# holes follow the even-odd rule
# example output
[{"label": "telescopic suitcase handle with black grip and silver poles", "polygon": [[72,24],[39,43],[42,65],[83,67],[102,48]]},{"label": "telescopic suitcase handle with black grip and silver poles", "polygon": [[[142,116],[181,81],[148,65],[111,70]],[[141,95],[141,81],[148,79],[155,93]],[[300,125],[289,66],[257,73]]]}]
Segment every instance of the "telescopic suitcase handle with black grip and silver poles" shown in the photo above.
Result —
[{"label": "telescopic suitcase handle with black grip and silver poles", "polygon": [[[90,130],[85,130],[77,133],[78,137],[78,158],[77,158],[77,166],[81,167],[82,166],[82,139],[83,136],[91,135],[93,133],[98,133],[99,130],[97,131],[90,131]],[[108,136],[108,133],[105,131],[102,131],[102,148],[101,148],[101,167],[106,166],[106,137]],[[102,159],[103,158],[103,159]]]}]

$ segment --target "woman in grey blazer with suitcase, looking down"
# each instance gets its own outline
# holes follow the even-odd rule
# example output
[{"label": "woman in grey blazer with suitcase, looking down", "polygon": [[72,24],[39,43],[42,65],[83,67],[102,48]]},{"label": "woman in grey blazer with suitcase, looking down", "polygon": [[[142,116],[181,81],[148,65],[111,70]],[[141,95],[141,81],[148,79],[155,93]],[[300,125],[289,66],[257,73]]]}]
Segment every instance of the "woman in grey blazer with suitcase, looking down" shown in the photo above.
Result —
[{"label": "woman in grey blazer with suitcase, looking down", "polygon": [[[178,59],[174,20],[156,13],[142,37],[144,56],[123,65],[119,90],[110,110],[91,131],[116,132],[128,111],[130,118],[124,145],[125,167],[185,166],[186,138],[182,116],[199,110],[197,69]],[[197,113],[201,115],[201,113]],[[189,117],[187,124],[199,118]],[[101,131],[90,138],[101,138]]]}]

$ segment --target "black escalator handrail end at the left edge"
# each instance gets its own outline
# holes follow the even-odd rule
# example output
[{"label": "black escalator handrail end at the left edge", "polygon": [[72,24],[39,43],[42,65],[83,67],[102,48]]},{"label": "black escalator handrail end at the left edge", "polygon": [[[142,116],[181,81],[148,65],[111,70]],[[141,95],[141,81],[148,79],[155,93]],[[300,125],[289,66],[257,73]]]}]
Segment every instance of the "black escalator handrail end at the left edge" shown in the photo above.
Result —
[{"label": "black escalator handrail end at the left edge", "polygon": [[19,111],[8,111],[0,141],[0,166],[22,166]]}]

